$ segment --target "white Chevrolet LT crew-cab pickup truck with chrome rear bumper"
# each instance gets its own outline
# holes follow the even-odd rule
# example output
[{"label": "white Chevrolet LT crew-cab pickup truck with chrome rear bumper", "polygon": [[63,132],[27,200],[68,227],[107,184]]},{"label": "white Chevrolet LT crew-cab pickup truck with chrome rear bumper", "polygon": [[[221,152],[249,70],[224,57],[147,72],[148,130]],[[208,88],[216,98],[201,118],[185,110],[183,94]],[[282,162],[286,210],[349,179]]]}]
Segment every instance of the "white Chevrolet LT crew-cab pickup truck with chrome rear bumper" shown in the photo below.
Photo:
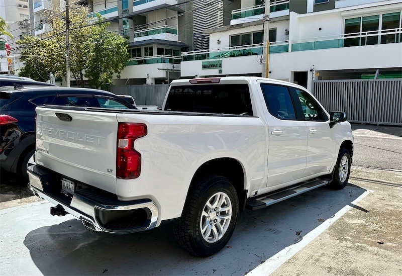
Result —
[{"label": "white Chevrolet LT crew-cab pickup truck with chrome rear bumper", "polygon": [[209,256],[239,214],[346,186],[351,125],[302,86],[259,77],[174,80],[161,111],[36,108],[30,189],[95,231],[173,222]]}]

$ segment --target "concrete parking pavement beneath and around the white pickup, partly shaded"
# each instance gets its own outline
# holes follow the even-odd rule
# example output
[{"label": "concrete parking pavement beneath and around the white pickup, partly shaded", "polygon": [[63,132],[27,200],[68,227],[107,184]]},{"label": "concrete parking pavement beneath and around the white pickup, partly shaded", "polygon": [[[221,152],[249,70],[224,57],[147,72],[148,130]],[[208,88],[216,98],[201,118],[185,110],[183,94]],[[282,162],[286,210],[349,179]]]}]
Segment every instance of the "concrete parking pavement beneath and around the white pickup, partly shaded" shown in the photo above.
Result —
[{"label": "concrete parking pavement beneath and around the white pickup, partly shaded", "polygon": [[[357,167],[349,182],[341,191],[322,187],[241,213],[228,246],[209,258],[181,249],[170,227],[119,236],[95,233],[70,215],[52,217],[45,202],[4,209],[2,274],[244,275],[297,246],[345,206],[353,208],[274,275],[402,274],[402,172]],[[367,189],[373,192],[352,204]]]}]

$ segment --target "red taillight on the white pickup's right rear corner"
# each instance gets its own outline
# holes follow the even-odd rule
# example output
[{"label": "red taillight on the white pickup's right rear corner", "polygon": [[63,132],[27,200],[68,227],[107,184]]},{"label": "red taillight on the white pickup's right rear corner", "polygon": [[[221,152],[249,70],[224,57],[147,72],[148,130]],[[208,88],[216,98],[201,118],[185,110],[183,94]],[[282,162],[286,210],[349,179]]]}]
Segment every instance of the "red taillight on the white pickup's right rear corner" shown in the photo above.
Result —
[{"label": "red taillight on the white pickup's right rear corner", "polygon": [[147,135],[147,126],[145,124],[119,123],[116,177],[132,179],[140,176],[141,154],[134,149],[134,141],[145,135]]}]

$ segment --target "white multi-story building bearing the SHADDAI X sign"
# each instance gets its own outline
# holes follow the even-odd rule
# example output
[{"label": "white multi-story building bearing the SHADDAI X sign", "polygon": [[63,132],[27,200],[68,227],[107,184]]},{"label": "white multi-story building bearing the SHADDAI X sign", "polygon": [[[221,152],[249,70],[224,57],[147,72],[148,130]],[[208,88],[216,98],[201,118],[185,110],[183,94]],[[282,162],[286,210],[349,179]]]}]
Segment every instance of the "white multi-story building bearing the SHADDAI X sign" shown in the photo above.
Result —
[{"label": "white multi-story building bearing the SHADDAI X sign", "polygon": [[[269,77],[402,77],[400,0],[271,0]],[[229,26],[205,31],[207,50],[182,53],[181,76],[262,73],[263,3],[241,0]]]}]

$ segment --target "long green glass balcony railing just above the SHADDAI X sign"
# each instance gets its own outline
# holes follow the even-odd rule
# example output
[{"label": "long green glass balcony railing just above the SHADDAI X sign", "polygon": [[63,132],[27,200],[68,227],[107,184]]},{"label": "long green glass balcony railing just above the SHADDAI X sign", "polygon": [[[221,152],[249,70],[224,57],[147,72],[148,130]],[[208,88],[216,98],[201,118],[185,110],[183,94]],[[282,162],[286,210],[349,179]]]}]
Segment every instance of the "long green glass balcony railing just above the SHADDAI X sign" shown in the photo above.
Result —
[{"label": "long green glass balcony railing just above the SHADDAI X sign", "polygon": [[[194,51],[185,52],[181,54],[182,61],[192,61],[192,60],[205,60],[205,59],[217,59],[217,58],[228,58],[228,57],[240,57],[240,56],[251,56],[251,55],[262,55],[262,44],[254,44],[247,46],[238,46],[226,48],[224,51],[217,50],[207,50],[207,51]],[[269,53],[284,53],[289,50],[289,45],[287,43],[281,44],[271,44],[269,46]]]}]

